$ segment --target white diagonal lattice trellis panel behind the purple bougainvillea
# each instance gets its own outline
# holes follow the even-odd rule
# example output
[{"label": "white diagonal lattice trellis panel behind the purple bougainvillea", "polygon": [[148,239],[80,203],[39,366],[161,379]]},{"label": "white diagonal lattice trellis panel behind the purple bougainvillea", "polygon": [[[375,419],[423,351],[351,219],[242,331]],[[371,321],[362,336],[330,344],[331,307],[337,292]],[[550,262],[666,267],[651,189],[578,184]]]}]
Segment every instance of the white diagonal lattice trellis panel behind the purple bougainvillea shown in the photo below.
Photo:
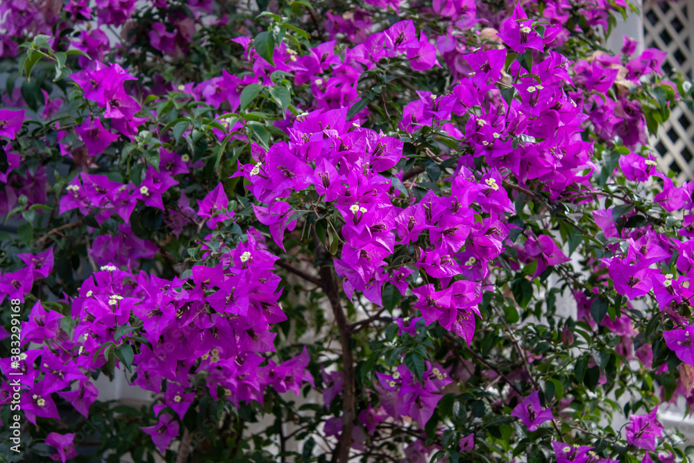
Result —
[{"label": "white diagonal lattice trellis panel behind the purple bougainvillea", "polygon": [[[663,62],[666,75],[680,71],[690,80],[694,70],[694,0],[643,2],[645,45],[668,53]],[[694,113],[679,105],[670,120],[659,128],[650,144],[661,155],[661,166],[677,173],[678,180],[694,178]]]}]

